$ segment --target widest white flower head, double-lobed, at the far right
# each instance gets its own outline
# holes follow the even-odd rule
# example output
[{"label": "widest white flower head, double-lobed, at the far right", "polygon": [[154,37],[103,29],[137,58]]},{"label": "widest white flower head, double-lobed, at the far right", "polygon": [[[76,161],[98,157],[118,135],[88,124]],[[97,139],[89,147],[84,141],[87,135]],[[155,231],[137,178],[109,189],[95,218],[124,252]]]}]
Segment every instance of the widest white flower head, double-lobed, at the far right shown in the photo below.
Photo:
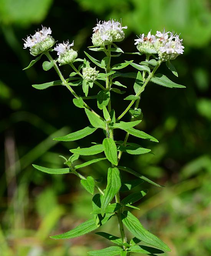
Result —
[{"label": "widest white flower head, double-lobed, at the far right", "polygon": [[172,32],[157,31],[156,35],[151,35],[151,31],[147,36],[140,35],[140,38],[135,39],[135,45],[140,52],[146,54],[158,53],[160,59],[172,60],[178,55],[183,54],[184,46],[182,39]]}]

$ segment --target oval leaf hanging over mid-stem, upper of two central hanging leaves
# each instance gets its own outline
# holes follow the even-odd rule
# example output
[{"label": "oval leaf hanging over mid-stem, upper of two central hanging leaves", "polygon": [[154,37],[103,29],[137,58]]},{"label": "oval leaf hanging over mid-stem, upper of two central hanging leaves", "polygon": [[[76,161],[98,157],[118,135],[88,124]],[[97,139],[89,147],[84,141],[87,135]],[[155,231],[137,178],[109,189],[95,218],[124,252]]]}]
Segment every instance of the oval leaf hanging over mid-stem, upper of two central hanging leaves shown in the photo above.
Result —
[{"label": "oval leaf hanging over mid-stem, upper of two central hanging leaves", "polygon": [[118,164],[117,159],[117,146],[112,138],[106,138],[103,140],[102,145],[107,159],[114,165]]}]

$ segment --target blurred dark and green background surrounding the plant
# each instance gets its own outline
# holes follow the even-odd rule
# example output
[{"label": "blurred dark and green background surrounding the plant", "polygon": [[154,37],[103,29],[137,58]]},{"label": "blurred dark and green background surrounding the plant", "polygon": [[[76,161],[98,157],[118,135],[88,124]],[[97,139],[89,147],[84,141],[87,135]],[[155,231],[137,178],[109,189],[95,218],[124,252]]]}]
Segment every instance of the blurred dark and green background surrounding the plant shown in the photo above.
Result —
[{"label": "blurred dark and green background surrounding the plant", "polygon": [[[65,88],[40,91],[31,87],[58,80],[53,70],[42,70],[42,61],[22,71],[33,59],[28,49],[23,49],[22,38],[41,24],[51,27],[59,42],[74,40],[74,49],[84,58],[96,20],[110,17],[122,18],[128,26],[125,40],[119,44],[125,52],[137,51],[136,35],[150,29],[155,33],[165,27],[181,33],[185,52],[173,61],[179,78],[165,65],[160,72],[186,89],[147,87],[141,100],[143,121],[139,129],[160,142],[143,141],[153,154],[125,156],[121,161],[165,186],[144,184],[142,188],[150,192],[137,203],[140,210],[133,212],[170,246],[172,252],[165,255],[211,255],[211,1],[0,0],[0,256],[84,256],[90,249],[111,246],[94,233],[72,240],[49,238],[90,218],[92,196],[76,177],[49,176],[31,164],[63,167],[59,155],[69,157],[70,148],[89,146],[102,135],[77,143],[53,141],[53,137],[84,128],[87,118],[73,105]],[[124,59],[131,56],[121,56],[119,62]],[[135,57],[134,62],[142,60]],[[63,66],[62,71],[67,77],[70,69]],[[127,82],[129,95],[133,83]],[[113,97],[117,100],[119,96]],[[117,112],[122,107],[118,104]],[[100,162],[81,172],[102,176],[105,181],[107,167],[106,162]],[[125,173],[122,176],[134,178]],[[119,236],[114,226],[115,218],[103,230]]]}]

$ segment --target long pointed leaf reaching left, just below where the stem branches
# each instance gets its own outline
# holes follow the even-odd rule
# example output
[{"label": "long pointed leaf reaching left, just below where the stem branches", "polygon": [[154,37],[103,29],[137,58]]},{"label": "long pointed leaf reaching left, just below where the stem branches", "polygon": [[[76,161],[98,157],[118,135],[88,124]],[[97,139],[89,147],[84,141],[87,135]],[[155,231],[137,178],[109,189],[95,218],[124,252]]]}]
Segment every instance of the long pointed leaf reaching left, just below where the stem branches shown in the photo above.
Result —
[{"label": "long pointed leaf reaching left, just below where the stem branches", "polygon": [[77,141],[79,139],[82,139],[82,138],[92,134],[96,130],[97,130],[97,128],[94,128],[92,125],[89,125],[82,130],[79,130],[77,132],[72,132],[66,136],[56,137],[53,140],[54,141]]}]

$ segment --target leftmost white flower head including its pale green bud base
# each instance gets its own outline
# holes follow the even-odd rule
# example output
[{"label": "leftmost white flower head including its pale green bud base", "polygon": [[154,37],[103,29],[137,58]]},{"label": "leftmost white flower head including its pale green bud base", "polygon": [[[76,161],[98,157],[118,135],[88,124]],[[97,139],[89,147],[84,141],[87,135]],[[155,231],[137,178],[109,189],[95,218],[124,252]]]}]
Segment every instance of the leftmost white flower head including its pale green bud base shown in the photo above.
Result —
[{"label": "leftmost white flower head including its pale green bud base", "polygon": [[42,26],[42,29],[35,32],[34,35],[23,39],[24,49],[30,47],[30,53],[34,56],[41,54],[42,52],[51,48],[55,41],[51,35],[51,28],[46,28]]}]

